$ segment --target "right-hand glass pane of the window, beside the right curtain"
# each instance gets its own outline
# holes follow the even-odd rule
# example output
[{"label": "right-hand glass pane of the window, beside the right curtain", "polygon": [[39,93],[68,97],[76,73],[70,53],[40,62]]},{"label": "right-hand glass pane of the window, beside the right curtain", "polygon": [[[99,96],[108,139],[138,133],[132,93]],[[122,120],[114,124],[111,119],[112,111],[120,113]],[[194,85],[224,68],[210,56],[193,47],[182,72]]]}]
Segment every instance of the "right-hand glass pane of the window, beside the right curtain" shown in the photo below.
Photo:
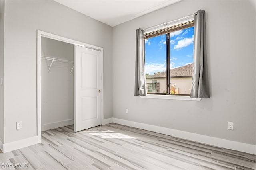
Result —
[{"label": "right-hand glass pane of the window, beside the right curtain", "polygon": [[193,73],[194,27],[170,33],[171,94],[190,94]]}]

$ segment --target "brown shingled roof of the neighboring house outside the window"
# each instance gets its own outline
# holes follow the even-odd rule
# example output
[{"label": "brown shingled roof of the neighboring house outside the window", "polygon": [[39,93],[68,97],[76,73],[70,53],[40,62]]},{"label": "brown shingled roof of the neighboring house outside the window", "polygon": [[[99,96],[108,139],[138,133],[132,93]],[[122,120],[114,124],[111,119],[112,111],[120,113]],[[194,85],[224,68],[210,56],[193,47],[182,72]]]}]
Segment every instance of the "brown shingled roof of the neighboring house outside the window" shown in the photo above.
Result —
[{"label": "brown shingled roof of the neighboring house outside the window", "polygon": [[[178,68],[171,69],[171,77],[190,77],[193,73],[193,64],[188,64]],[[166,71],[160,72],[146,78],[162,78],[166,77]]]}]

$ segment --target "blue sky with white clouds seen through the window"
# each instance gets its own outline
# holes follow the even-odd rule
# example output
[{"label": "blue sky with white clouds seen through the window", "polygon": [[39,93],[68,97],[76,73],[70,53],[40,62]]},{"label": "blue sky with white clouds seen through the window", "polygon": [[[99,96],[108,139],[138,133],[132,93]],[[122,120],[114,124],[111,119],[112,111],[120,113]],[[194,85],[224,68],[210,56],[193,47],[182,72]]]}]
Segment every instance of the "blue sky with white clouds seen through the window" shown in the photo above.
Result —
[{"label": "blue sky with white clouds seen through the window", "polygon": [[[170,66],[177,68],[193,62],[194,27],[170,33]],[[166,35],[145,39],[146,74],[166,71]]]}]

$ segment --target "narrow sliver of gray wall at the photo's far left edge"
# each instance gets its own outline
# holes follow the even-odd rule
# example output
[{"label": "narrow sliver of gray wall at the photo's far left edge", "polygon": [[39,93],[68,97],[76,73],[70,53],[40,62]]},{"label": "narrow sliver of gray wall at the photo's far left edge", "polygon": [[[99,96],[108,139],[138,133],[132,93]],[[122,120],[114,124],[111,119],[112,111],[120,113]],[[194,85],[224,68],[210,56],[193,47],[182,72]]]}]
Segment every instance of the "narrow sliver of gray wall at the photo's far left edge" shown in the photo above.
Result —
[{"label": "narrow sliver of gray wall at the photo's far left edge", "polygon": [[[4,2],[0,1],[0,77],[4,77]],[[0,86],[0,139],[4,142],[4,85]]]}]

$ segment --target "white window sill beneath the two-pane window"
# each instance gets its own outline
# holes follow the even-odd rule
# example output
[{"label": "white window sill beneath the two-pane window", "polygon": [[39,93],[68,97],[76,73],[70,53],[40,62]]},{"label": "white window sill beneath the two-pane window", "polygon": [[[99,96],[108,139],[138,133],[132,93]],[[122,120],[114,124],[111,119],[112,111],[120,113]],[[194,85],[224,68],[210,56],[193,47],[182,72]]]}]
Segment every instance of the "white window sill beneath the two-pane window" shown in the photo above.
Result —
[{"label": "white window sill beneath the two-pane window", "polygon": [[190,98],[189,96],[174,96],[174,95],[159,95],[159,94],[148,94],[147,96],[140,96],[140,98],[149,98],[149,99],[170,99],[170,100],[192,100],[200,101],[201,98]]}]

